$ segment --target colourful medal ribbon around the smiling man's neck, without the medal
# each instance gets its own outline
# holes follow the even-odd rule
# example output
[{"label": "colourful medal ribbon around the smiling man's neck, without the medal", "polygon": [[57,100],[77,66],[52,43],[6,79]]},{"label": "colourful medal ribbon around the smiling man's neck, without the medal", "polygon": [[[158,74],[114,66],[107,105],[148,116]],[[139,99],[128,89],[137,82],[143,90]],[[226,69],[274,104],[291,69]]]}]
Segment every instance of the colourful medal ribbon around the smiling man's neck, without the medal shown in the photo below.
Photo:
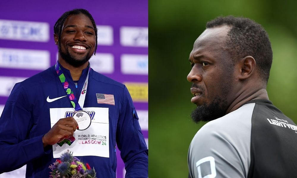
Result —
[{"label": "colourful medal ribbon around the smiling man's neck, without the medal", "polygon": [[87,78],[86,78],[86,81],[83,84],[83,89],[81,90],[78,102],[77,102],[77,99],[76,99],[76,97],[75,97],[75,95],[73,93],[73,90],[70,88],[70,85],[66,80],[66,77],[65,77],[64,73],[61,70],[61,67],[60,67],[58,61],[57,61],[56,65],[55,65],[55,68],[56,68],[56,72],[58,74],[58,77],[59,77],[59,79],[61,81],[61,84],[62,84],[62,86],[63,86],[63,88],[64,88],[64,90],[65,90],[65,92],[66,92],[66,94],[67,94],[73,108],[74,108],[74,110],[75,111],[83,110],[80,106],[83,107],[83,104],[84,104],[85,98],[86,98],[89,73],[90,73],[90,70],[91,70],[90,63],[89,63],[89,70],[88,70]]}]

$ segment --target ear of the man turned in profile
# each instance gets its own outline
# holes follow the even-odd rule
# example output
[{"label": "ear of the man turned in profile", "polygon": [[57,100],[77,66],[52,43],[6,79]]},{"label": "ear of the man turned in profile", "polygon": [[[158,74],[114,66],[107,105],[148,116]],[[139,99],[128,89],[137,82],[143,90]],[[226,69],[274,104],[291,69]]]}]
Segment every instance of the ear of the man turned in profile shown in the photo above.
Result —
[{"label": "ear of the man turned in profile", "polygon": [[240,58],[238,61],[238,79],[244,80],[249,78],[253,73],[255,73],[256,69],[256,61],[252,56],[246,56],[244,58]]}]

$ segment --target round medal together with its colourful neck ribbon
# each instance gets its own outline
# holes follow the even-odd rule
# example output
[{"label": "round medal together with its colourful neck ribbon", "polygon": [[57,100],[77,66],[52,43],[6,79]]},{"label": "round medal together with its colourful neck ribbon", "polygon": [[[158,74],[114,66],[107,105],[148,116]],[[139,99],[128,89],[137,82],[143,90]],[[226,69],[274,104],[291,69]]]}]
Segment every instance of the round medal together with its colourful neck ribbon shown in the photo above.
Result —
[{"label": "round medal together with its colourful neck ribbon", "polygon": [[[77,101],[73,90],[70,88],[70,85],[63,73],[63,71],[61,70],[61,67],[59,65],[59,62],[57,61],[55,69],[56,72],[58,74],[58,77],[60,79],[60,82],[67,94],[67,97],[70,100],[70,103],[72,104],[73,108],[74,108],[74,114],[73,114],[73,118],[76,120],[76,122],[78,123],[78,129],[77,130],[86,130],[87,128],[89,128],[89,126],[91,125],[91,116],[89,115],[89,113],[87,113],[86,111],[83,111],[83,109],[81,108],[81,106],[83,106],[85,98],[86,98],[86,92],[87,92],[87,87],[88,87],[88,79],[89,79],[89,72],[91,70],[90,64],[89,64],[89,70],[88,70],[88,74],[87,74],[87,78],[86,81],[84,82],[83,85],[83,89],[81,91],[80,94],[80,98],[79,101]],[[64,139],[62,142],[57,143],[58,145],[62,146],[64,143],[67,143],[69,146],[75,141],[75,138],[72,136],[70,138]]]}]

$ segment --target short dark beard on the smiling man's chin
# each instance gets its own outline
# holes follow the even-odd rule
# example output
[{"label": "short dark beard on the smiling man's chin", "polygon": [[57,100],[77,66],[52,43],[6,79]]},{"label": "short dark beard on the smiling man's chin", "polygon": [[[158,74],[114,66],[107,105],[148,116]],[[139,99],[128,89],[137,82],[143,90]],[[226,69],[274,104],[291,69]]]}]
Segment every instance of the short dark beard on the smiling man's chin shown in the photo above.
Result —
[{"label": "short dark beard on the smiling man's chin", "polygon": [[87,61],[90,60],[91,56],[89,57],[90,55],[90,52],[86,54],[86,56],[84,56],[83,58],[81,59],[77,59],[75,58],[75,56],[71,55],[69,53],[69,50],[68,48],[66,49],[66,53],[63,53],[61,50],[59,50],[59,53],[61,55],[61,57],[67,62],[69,63],[70,65],[74,66],[74,67],[79,67],[79,66],[82,66],[84,63],[86,63]]}]

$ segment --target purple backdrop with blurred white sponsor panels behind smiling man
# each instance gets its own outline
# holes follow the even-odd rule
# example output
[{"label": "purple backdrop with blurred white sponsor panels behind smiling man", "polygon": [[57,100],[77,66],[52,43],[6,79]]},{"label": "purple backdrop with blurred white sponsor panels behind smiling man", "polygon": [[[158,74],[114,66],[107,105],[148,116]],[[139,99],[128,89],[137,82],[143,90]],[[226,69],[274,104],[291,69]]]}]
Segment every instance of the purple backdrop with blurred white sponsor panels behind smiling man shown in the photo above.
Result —
[{"label": "purple backdrop with blurred white sponsor panels behind smiling man", "polygon": [[[0,114],[16,82],[56,63],[53,26],[75,8],[87,9],[98,28],[91,68],[127,86],[148,144],[148,0],[1,1]],[[119,151],[117,157],[116,175],[121,178],[125,169]],[[25,172],[24,166],[0,178],[25,177]]]}]

